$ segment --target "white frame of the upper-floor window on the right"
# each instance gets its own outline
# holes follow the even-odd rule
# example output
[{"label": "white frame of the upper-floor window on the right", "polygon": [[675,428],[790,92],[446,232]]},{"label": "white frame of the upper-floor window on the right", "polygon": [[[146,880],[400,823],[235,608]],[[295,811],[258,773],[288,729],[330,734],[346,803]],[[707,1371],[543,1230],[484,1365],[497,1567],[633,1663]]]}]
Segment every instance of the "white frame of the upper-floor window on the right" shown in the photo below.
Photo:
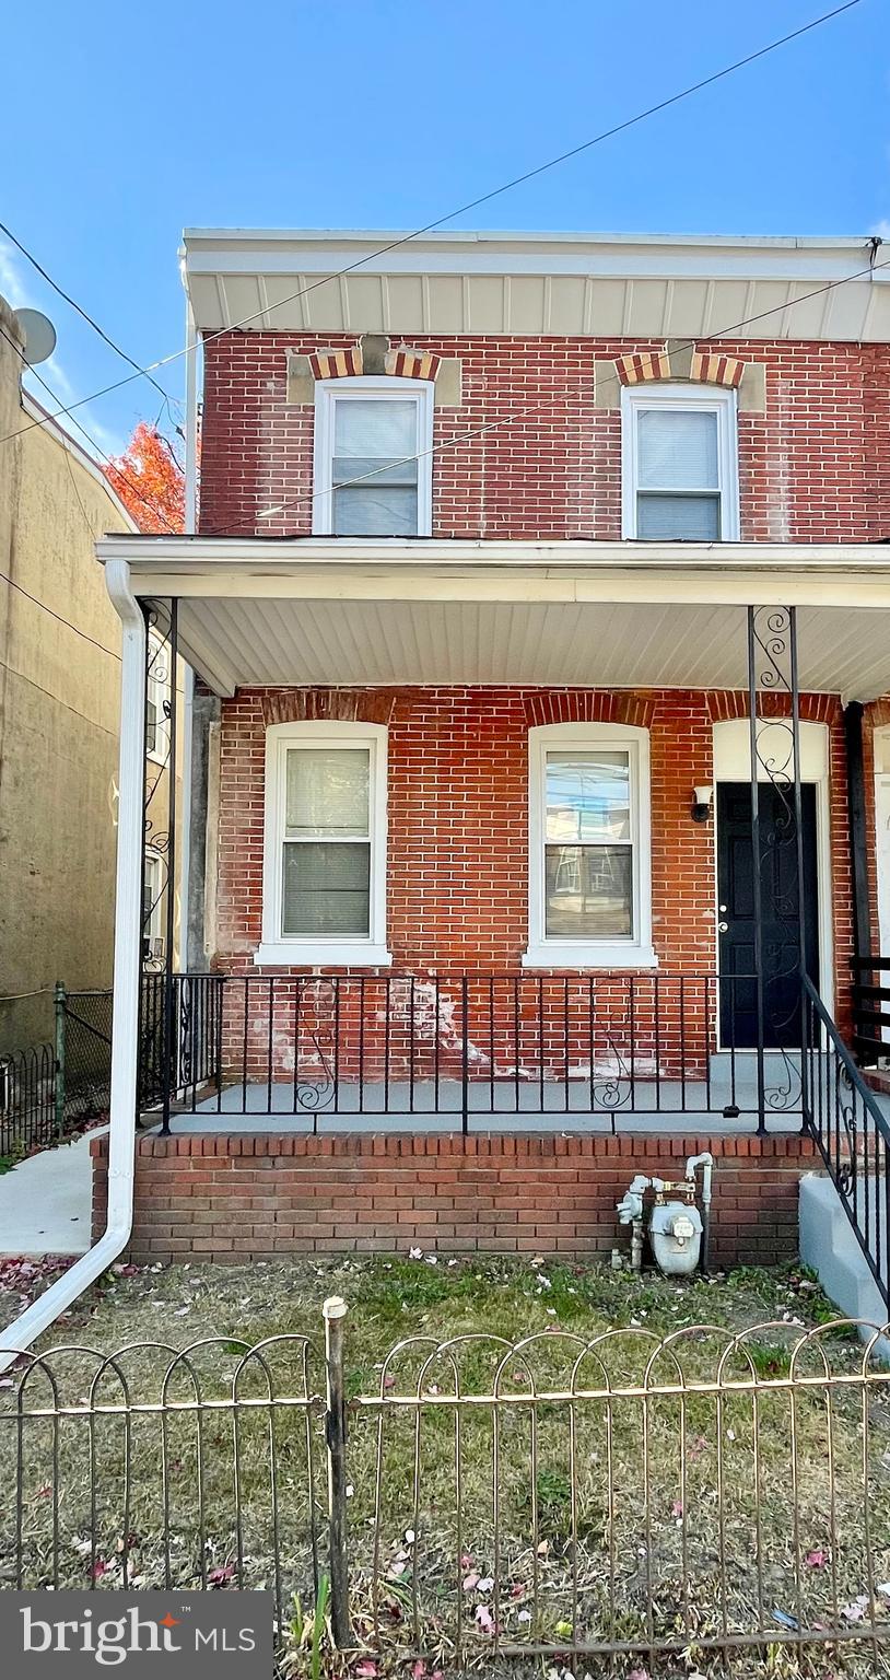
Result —
[{"label": "white frame of the upper-floor window on the right", "polygon": [[[638,417],[641,408],[717,415],[720,543],[739,541],[739,405],[734,390],[707,385],[625,385],[621,390],[621,536],[636,539]],[[670,491],[665,491],[670,494]],[[682,494],[682,492],[678,492]],[[673,538],[641,538],[673,543]]]}]

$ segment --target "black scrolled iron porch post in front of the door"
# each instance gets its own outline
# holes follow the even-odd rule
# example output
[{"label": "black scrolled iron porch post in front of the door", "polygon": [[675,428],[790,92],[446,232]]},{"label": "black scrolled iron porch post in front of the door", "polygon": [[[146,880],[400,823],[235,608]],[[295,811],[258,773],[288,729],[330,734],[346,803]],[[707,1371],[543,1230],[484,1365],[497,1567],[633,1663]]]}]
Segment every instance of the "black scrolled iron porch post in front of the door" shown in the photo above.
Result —
[{"label": "black scrolled iron porch post in front of the door", "polygon": [[[752,921],[754,984],[757,1020],[757,1132],[766,1132],[767,1112],[788,1112],[799,1082],[801,1112],[806,1124],[806,1055],[803,976],[806,974],[806,882],[801,800],[801,731],[798,684],[798,622],[794,606],[747,608],[747,685],[751,736],[751,848],[752,848]],[[772,704],[764,704],[771,697]],[[761,786],[779,796],[781,815],[766,830],[761,823]],[[794,890],[781,887],[781,858],[774,853],[794,847]],[[772,862],[774,921],[783,922],[788,937],[764,942],[764,864]],[[796,934],[791,929],[796,927]],[[784,951],[794,946],[793,966]],[[776,996],[783,979],[794,979],[794,1005],[783,1013]],[[769,986],[772,984],[772,995]],[[766,1033],[783,1058],[783,1074],[772,1089],[766,1079]],[[784,1038],[784,1042],[783,1042]],[[799,1067],[793,1055],[799,1053]]]}]

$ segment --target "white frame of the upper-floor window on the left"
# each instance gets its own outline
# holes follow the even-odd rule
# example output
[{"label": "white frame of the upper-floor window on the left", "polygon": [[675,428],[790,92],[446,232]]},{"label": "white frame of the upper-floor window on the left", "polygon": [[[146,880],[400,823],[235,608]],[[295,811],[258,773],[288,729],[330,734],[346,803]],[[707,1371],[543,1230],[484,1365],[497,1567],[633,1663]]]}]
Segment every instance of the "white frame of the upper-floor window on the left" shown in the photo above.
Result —
[{"label": "white frame of the upper-floor window on the left", "polygon": [[[380,402],[405,402],[416,407],[416,533],[432,536],[433,529],[433,393],[432,380],[400,380],[395,376],[358,375],[356,378],[319,380],[316,383],[316,438],[312,467],[312,534],[331,536],[334,516],[334,407],[338,402],[380,398]],[[368,480],[369,484],[373,479]],[[346,539],[351,541],[351,539]],[[358,541],[358,539],[356,539]],[[373,538],[378,543],[410,541],[410,538]]]}]

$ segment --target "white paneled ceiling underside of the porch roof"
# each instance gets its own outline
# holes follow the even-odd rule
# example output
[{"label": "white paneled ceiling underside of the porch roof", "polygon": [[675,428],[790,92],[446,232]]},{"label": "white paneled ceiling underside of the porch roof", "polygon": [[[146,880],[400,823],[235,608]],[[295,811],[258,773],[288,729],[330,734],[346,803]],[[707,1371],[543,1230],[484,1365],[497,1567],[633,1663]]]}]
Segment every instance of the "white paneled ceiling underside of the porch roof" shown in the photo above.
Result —
[{"label": "white paneled ceiling underside of the porch roof", "polygon": [[[220,692],[254,684],[747,684],[739,605],[181,596],[180,637]],[[801,689],[860,701],[890,690],[890,610],[799,606],[798,648]]]}]

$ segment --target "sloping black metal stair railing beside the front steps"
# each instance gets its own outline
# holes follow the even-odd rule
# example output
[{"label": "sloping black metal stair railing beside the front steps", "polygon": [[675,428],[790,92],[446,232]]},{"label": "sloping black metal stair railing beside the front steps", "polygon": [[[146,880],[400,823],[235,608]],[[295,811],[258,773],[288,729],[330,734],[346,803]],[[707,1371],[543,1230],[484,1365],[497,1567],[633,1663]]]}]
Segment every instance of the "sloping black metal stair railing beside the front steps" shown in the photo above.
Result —
[{"label": "sloping black metal stair railing beside the front steps", "polygon": [[890,1122],[813,983],[803,979],[806,1032],[804,1124],[868,1270],[890,1304]]}]

